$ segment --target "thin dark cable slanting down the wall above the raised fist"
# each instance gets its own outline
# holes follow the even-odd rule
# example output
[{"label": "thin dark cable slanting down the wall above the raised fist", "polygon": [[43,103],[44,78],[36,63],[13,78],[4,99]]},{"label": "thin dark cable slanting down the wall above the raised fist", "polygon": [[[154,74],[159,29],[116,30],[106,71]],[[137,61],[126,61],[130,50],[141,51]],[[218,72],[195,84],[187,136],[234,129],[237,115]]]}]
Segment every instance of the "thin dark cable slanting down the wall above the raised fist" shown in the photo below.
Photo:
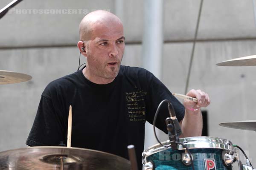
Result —
[{"label": "thin dark cable slanting down the wall above the raised fist", "polygon": [[187,79],[186,79],[185,94],[187,93],[188,86],[189,86],[189,77],[190,77],[190,72],[191,72],[191,68],[192,68],[192,61],[193,61],[193,58],[194,58],[195,42],[196,42],[197,34],[198,34],[198,27],[199,27],[199,23],[200,23],[200,17],[201,17],[203,1],[204,0],[201,0],[199,12],[198,12],[198,20],[197,20],[196,29],[195,29],[195,37],[194,37],[194,41],[193,41],[193,48],[192,48],[192,53],[191,53],[190,62],[189,62],[189,71],[188,71],[188,76],[187,76]]}]

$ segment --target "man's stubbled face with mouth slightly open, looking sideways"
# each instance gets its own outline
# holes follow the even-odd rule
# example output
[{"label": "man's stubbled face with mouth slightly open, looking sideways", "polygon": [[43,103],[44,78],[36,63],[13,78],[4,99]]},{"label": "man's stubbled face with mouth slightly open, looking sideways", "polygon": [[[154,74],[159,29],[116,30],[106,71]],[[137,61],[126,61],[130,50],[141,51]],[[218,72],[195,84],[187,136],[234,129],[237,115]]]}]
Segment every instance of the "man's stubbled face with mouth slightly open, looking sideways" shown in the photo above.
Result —
[{"label": "man's stubbled face with mouth slightly open, looking sideways", "polygon": [[114,79],[120,68],[125,49],[122,24],[93,27],[86,43],[87,64],[95,78]]}]

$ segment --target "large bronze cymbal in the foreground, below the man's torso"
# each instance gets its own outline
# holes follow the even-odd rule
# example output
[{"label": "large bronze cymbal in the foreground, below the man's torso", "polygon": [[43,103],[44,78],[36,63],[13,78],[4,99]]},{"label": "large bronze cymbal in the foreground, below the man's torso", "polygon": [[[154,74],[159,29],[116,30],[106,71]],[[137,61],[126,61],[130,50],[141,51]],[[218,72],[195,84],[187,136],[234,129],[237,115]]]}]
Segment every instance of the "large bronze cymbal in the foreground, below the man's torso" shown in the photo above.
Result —
[{"label": "large bronze cymbal in the foreground, below the man's torso", "polygon": [[29,147],[0,152],[1,170],[130,170],[130,161],[77,147]]}]

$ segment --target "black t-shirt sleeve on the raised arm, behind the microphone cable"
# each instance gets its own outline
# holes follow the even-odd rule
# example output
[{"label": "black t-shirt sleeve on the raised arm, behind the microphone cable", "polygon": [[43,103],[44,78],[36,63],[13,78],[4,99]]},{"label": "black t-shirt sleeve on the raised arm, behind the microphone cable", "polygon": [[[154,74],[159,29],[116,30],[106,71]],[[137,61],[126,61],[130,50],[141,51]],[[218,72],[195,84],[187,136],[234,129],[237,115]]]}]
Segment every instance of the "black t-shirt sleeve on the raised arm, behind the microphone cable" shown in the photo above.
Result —
[{"label": "black t-shirt sleeve on the raised arm, behind the microphone cable", "polygon": [[[168,99],[175,110],[176,117],[180,122],[185,114],[184,106],[172,95],[172,93],[150,72],[147,75],[148,82],[148,94],[146,95],[147,110],[146,110],[146,120],[153,124],[154,115],[157,111],[157,107],[164,99]],[[159,113],[157,115],[156,127],[167,133],[166,130],[166,118],[169,117],[168,103],[165,102],[161,106]]]}]

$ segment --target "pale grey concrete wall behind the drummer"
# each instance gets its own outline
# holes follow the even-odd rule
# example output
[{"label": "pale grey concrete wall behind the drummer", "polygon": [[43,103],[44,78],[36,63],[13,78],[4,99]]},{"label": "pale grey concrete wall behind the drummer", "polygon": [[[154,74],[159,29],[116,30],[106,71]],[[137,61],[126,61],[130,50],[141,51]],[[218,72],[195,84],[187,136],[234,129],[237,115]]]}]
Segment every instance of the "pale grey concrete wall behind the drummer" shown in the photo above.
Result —
[{"label": "pale grey concrete wall behind the drummer", "polygon": [[[0,8],[10,0],[1,0]],[[31,75],[28,82],[0,85],[0,151],[26,147],[40,96],[52,80],[76,71],[78,26],[90,11],[117,13],[125,28],[122,65],[142,66],[143,0],[23,0],[15,9],[84,9],[82,14],[6,14],[0,19],[0,70]],[[184,93],[200,0],[164,1],[162,82]],[[28,11],[28,10],[26,10]],[[220,67],[227,59],[256,54],[252,0],[204,0],[189,89],[211,98],[209,136],[229,139],[256,163],[256,133],[221,127],[221,122],[255,120],[256,67]],[[82,57],[82,62],[85,61]],[[153,132],[145,148],[155,144]],[[167,136],[160,133],[161,140]]]}]

